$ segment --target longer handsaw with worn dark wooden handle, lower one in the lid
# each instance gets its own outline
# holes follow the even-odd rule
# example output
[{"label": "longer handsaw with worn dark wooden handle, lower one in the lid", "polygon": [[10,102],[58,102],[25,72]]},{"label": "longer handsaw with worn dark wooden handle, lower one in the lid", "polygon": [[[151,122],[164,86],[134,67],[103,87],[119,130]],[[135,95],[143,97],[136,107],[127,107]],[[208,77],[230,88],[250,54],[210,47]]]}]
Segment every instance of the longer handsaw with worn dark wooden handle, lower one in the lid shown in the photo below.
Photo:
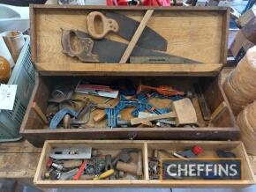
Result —
[{"label": "longer handsaw with worn dark wooden handle, lower one in the lid", "polygon": [[[76,35],[80,41],[83,41],[85,39],[90,39],[90,35],[88,33],[81,32],[79,30],[64,30],[63,29],[63,36],[62,39],[62,45],[63,48],[69,48],[71,49],[71,45],[67,43],[71,43],[70,41],[64,41],[67,38],[70,38],[69,34],[73,33],[73,35]],[[87,48],[87,50],[92,50],[92,53],[89,53],[89,55],[94,54],[97,55],[99,58],[99,63],[119,63],[122,55],[124,54],[125,49],[127,48],[127,44],[117,41],[111,41],[108,39],[102,39],[102,40],[94,40],[93,44],[89,45],[90,48]],[[92,47],[93,46],[93,47]],[[66,53],[66,51],[64,51]],[[157,52],[151,49],[145,49],[145,48],[139,48],[138,46],[135,46],[135,48],[132,50],[131,56],[169,56],[173,58],[183,58],[177,55],[169,55],[164,54],[161,52]],[[184,58],[183,58],[184,59]],[[187,63],[199,63],[197,61],[192,61],[189,59],[185,59]],[[89,61],[85,61],[88,62]]]}]

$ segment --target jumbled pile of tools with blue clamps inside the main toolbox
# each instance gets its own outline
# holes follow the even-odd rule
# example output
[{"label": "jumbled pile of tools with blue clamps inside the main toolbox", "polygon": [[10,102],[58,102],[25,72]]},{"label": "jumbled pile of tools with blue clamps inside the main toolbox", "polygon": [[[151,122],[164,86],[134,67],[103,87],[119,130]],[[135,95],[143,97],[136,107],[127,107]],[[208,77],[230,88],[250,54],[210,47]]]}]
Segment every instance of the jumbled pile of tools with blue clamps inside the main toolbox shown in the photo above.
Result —
[{"label": "jumbled pile of tools with blue clamps inside the main toolbox", "polygon": [[[190,100],[192,92],[180,92],[169,85],[139,85],[135,89],[132,82],[124,79],[110,86],[81,82],[75,90],[69,86],[54,89],[46,114],[49,129],[91,128],[88,126],[90,119],[94,123],[107,119],[108,128],[197,126],[197,115]],[[80,97],[74,96],[78,94]],[[94,97],[109,99],[96,103]],[[171,104],[159,108],[150,103],[151,99],[169,100]],[[112,105],[110,100],[114,101]],[[123,119],[121,111],[129,107],[132,107],[132,118]],[[96,109],[97,113],[91,118]]]}]

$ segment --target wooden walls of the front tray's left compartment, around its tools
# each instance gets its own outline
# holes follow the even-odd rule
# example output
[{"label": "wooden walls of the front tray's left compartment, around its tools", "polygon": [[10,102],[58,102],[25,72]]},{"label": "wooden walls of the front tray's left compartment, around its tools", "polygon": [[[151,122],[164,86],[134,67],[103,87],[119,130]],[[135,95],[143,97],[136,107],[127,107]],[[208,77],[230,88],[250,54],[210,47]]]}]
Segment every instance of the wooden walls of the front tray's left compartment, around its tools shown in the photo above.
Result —
[{"label": "wooden walls of the front tray's left compartment, around its tools", "polygon": [[[99,181],[49,181],[49,180],[42,180],[42,175],[46,171],[46,163],[49,159],[49,152],[54,147],[69,147],[69,146],[78,146],[78,147],[93,147],[93,149],[97,149],[100,151],[108,151],[109,154],[116,154],[113,157],[117,156],[118,151],[125,149],[125,148],[137,148],[140,149],[142,152],[142,169],[143,174],[140,180],[99,180]],[[44,147],[41,152],[41,159],[36,169],[36,174],[34,176],[34,184],[38,186],[43,186],[43,188],[50,188],[50,187],[57,187],[57,188],[67,188],[67,187],[92,187],[92,186],[101,186],[110,188],[112,186],[131,186],[132,183],[134,185],[139,185],[144,181],[147,181],[148,174],[145,174],[144,171],[147,171],[145,167],[145,161],[147,159],[147,147],[144,141],[129,141],[129,140],[62,140],[62,141],[47,141],[44,144]]]}]

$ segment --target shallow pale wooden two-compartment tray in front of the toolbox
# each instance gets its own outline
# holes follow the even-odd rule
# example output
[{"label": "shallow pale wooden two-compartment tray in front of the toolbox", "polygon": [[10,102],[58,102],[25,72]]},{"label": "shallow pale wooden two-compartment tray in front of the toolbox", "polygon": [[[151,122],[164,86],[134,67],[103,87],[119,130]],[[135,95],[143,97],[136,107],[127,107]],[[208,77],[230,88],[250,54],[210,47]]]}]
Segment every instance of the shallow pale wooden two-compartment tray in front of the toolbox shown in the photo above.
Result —
[{"label": "shallow pale wooden two-compartment tray in front of the toolbox", "polygon": [[[233,152],[237,158],[243,159],[242,170],[244,171],[244,180],[242,181],[214,181],[214,180],[174,180],[160,181],[150,180],[148,172],[148,157],[151,157],[152,151],[184,151],[191,149],[194,145],[200,145],[203,152],[199,158],[216,158],[217,150]],[[49,181],[43,180],[42,175],[46,171],[46,163],[49,159],[49,152],[54,147],[92,147],[97,151],[101,151],[102,155],[112,154],[115,157],[117,153],[124,148],[137,148],[142,151],[143,174],[137,180],[98,180],[98,181]],[[131,156],[136,159],[135,156]],[[132,160],[133,160],[132,159]],[[41,188],[238,188],[252,185],[254,183],[252,166],[248,160],[244,144],[238,141],[129,141],[129,140],[66,140],[66,141],[46,141],[42,152],[36,174],[34,176],[34,184]]]}]

